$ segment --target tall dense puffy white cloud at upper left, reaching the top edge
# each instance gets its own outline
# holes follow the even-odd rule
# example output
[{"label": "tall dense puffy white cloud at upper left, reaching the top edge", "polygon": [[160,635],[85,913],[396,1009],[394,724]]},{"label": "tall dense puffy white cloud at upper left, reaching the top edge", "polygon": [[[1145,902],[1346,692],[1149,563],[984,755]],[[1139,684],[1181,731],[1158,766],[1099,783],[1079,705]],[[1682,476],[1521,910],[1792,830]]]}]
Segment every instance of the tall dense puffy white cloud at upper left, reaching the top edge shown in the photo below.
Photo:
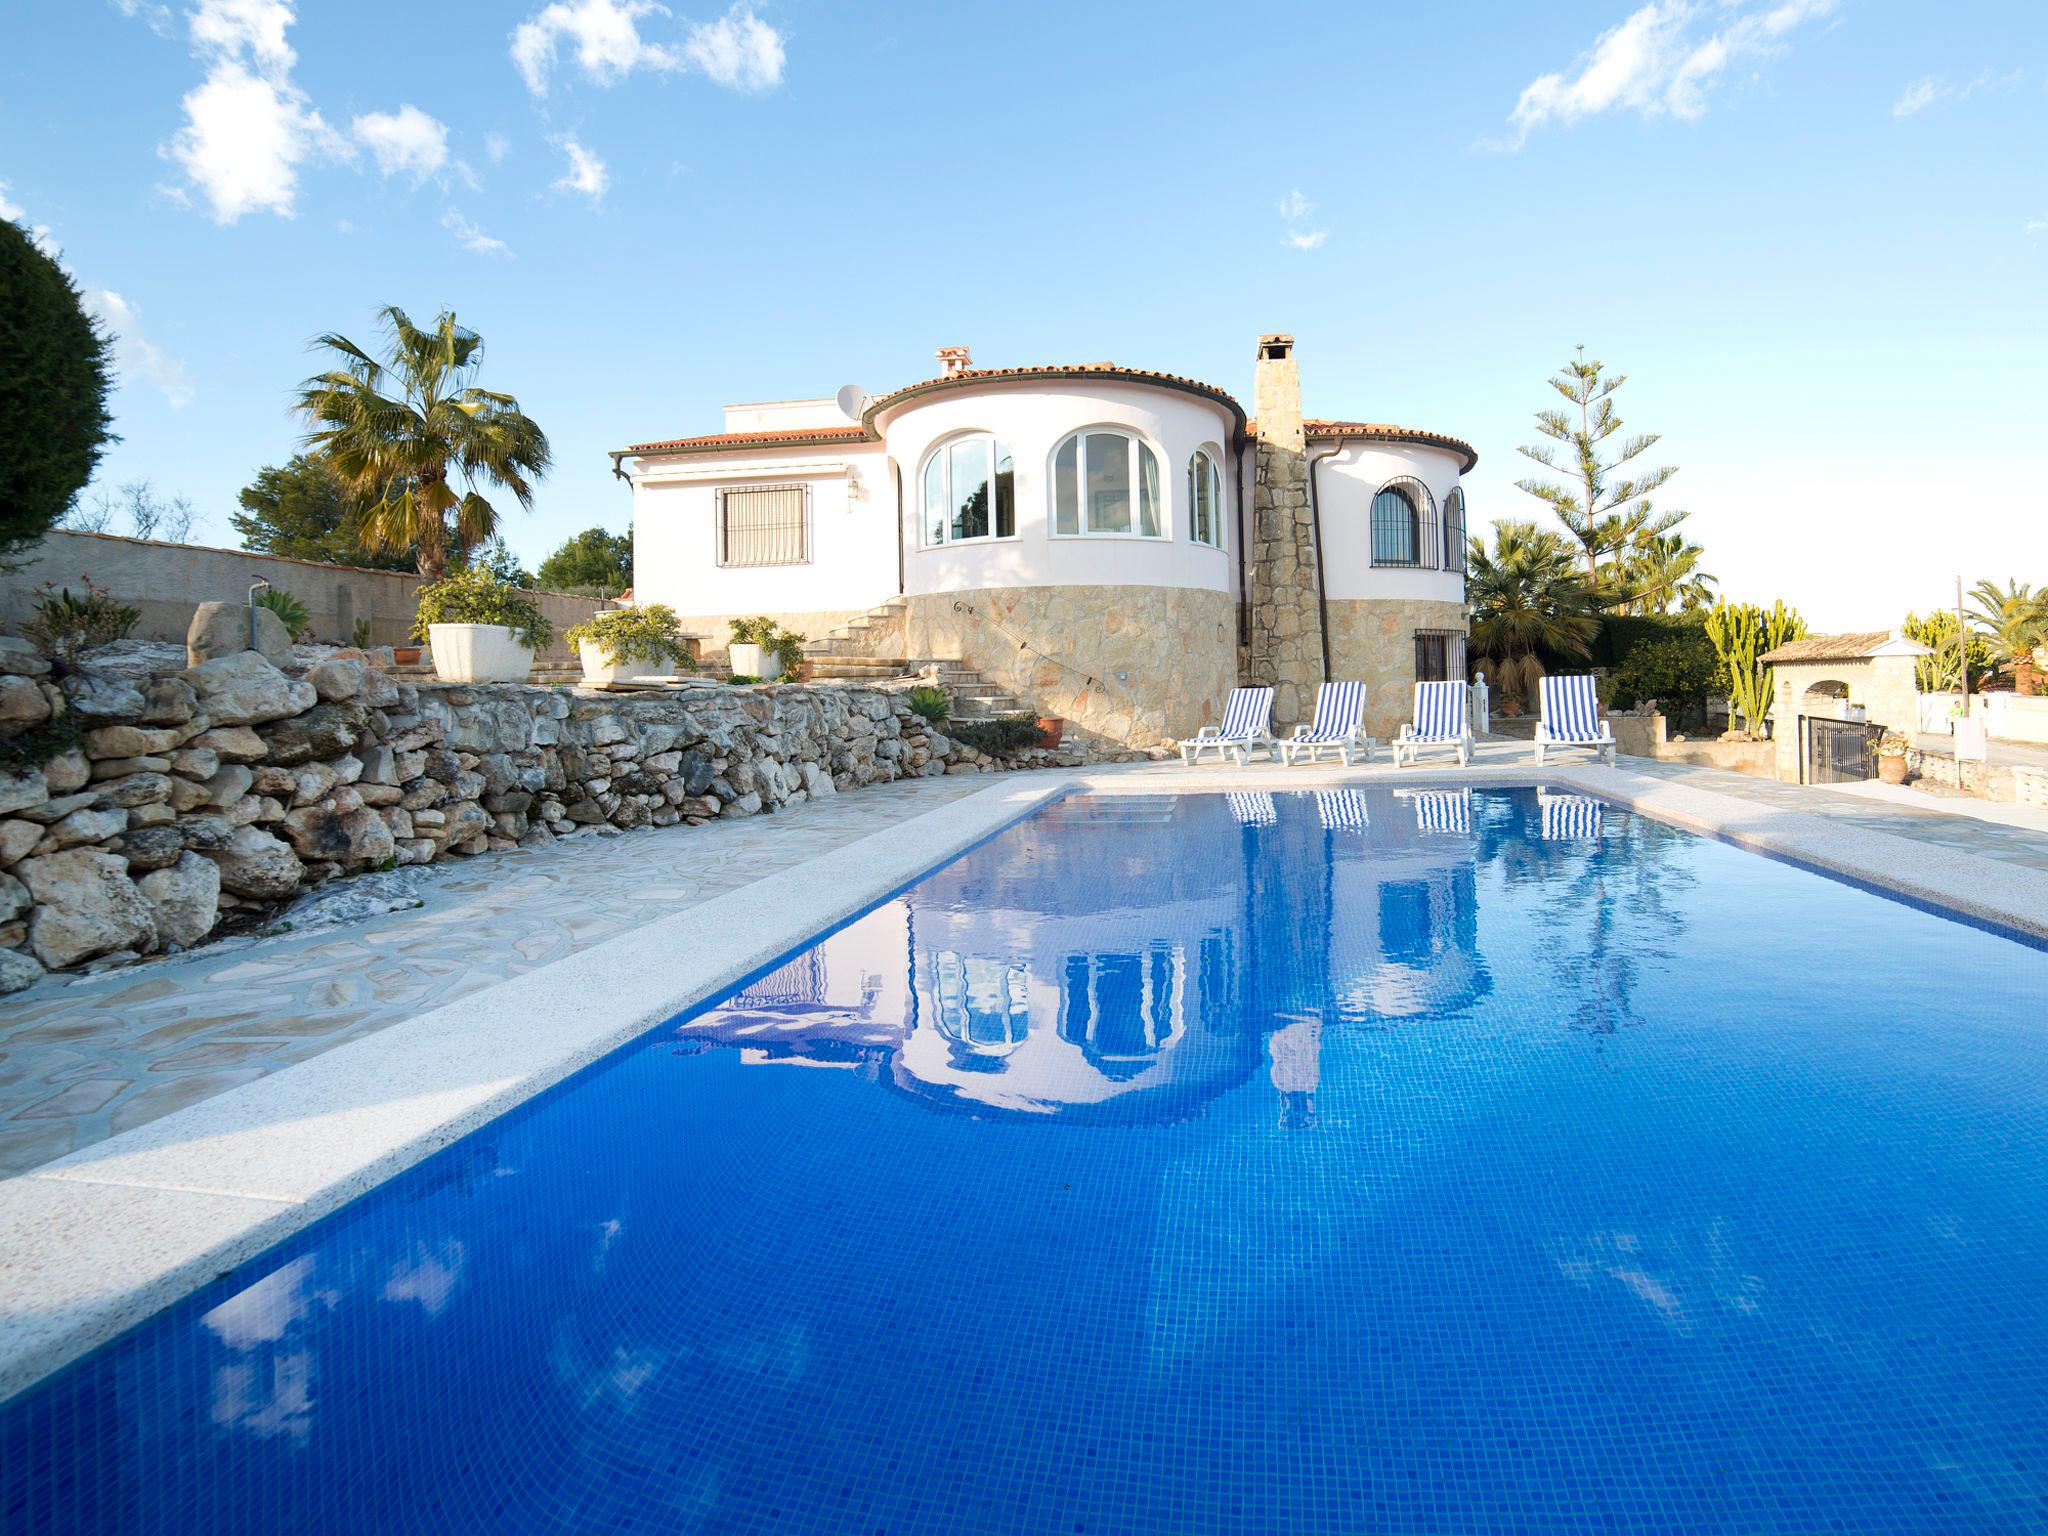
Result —
[{"label": "tall dense puffy white cloud at upper left, reaching the top edge", "polygon": [[299,166],[354,154],[291,84],[291,23],[285,0],[201,0],[193,12],[193,53],[207,78],[186,92],[186,123],[164,154],[205,195],[215,223],[256,211],[289,219]]}]

